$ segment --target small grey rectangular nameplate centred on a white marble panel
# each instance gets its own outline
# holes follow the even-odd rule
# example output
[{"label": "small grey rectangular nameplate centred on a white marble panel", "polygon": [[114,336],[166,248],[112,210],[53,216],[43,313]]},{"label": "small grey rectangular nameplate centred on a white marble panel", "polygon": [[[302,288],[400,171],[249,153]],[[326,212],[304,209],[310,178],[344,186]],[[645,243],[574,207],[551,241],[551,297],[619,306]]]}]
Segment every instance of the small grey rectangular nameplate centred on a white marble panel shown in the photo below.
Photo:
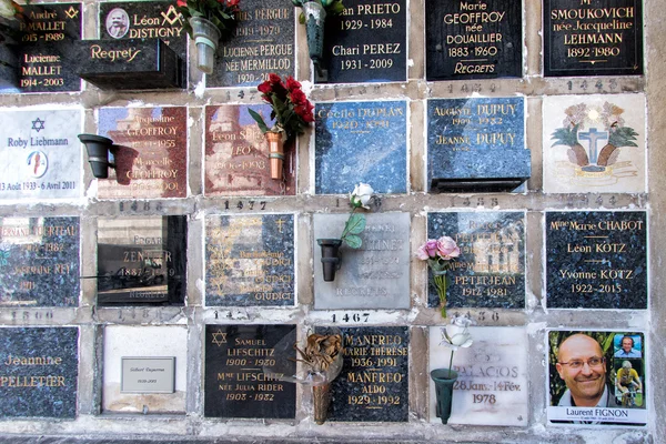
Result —
[{"label": "small grey rectangular nameplate centred on a white marble panel", "polygon": [[175,357],[122,357],[121,393],[173,393]]}]

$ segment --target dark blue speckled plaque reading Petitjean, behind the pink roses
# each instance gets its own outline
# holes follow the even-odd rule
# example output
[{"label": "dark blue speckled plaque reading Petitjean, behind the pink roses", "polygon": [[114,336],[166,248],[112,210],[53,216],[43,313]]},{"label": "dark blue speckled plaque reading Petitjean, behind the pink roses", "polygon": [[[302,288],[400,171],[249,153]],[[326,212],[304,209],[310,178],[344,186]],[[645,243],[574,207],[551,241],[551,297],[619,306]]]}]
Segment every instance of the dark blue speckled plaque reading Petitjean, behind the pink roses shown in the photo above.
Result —
[{"label": "dark blue speckled plaque reading Petitjean, behind the pink roses", "polygon": [[[428,213],[428,239],[443,235],[461,249],[450,265],[447,306],[525,306],[525,213]],[[430,268],[428,276],[428,306],[440,306]]]}]

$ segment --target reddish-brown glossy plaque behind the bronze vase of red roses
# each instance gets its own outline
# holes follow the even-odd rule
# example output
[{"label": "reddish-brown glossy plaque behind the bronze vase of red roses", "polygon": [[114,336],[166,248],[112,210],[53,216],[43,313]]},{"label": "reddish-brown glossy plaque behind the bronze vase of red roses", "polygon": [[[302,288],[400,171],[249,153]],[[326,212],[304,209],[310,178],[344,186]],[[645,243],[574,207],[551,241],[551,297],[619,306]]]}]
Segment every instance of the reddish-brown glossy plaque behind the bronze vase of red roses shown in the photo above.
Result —
[{"label": "reddish-brown glossy plaque behind the bronze vase of red roses", "polygon": [[269,143],[248,112],[264,117],[270,127],[271,107],[224,104],[205,107],[206,195],[293,195],[296,147],[285,147],[283,179],[271,179]]}]

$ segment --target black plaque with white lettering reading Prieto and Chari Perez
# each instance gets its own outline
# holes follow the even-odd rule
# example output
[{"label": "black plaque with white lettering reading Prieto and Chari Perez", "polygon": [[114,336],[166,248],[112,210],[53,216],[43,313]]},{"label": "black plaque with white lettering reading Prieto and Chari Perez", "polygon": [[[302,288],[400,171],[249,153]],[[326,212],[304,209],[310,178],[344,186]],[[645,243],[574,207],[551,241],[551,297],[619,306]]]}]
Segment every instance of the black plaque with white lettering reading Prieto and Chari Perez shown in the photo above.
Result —
[{"label": "black plaque with white lettering reading Prieto and Chari Perez", "polygon": [[[327,83],[401,82],[407,78],[407,2],[346,0],[326,16]],[[319,82],[319,79],[317,79]]]}]

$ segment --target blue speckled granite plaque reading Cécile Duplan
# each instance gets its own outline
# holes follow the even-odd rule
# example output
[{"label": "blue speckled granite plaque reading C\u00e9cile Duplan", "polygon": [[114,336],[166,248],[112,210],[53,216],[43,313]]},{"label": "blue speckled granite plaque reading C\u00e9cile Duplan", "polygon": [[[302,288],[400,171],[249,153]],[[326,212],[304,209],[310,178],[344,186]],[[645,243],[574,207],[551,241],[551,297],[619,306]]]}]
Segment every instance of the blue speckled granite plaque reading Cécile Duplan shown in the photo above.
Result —
[{"label": "blue speckled granite plaque reading C\u00e9cile Duplan", "polygon": [[359,182],[407,191],[406,101],[317,103],[315,115],[317,194],[346,194]]}]

